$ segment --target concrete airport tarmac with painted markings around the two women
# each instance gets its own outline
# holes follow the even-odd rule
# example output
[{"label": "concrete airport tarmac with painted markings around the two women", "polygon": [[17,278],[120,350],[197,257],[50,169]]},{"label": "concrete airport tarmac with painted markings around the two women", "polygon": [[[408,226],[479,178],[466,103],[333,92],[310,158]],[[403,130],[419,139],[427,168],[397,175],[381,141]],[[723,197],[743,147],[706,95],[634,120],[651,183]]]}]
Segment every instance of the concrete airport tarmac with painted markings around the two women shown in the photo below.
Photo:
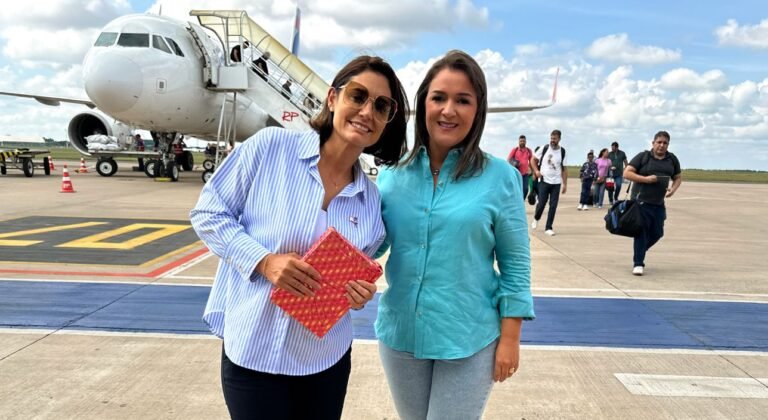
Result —
[{"label": "concrete airport tarmac with painted markings around the two women", "polygon": [[[185,228],[200,173],[73,173],[63,194],[58,164],[0,177],[0,419],[226,418],[199,319],[217,258]],[[557,235],[531,232],[537,319],[485,418],[766,418],[768,185],[684,182],[635,277],[574,181]],[[344,418],[396,419],[375,301],[354,316]]]}]

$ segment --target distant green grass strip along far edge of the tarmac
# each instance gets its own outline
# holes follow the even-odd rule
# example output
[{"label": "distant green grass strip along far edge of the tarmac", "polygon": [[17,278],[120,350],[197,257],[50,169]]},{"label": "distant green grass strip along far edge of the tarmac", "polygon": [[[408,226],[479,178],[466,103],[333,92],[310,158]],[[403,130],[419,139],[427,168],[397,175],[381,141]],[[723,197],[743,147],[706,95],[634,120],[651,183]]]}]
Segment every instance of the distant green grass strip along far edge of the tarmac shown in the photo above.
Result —
[{"label": "distant green grass strip along far edge of the tarmac", "polygon": [[[80,153],[70,148],[51,148],[51,156],[54,162],[56,160],[79,160]],[[203,154],[192,152],[195,158],[195,164],[203,162]],[[86,159],[89,160],[89,159]],[[118,158],[118,160],[130,160],[133,158]],[[578,166],[568,167],[568,177],[571,179],[579,177]],[[683,180],[685,182],[738,182],[752,184],[768,184],[768,171],[746,171],[746,170],[712,170],[712,169],[684,169]]]}]

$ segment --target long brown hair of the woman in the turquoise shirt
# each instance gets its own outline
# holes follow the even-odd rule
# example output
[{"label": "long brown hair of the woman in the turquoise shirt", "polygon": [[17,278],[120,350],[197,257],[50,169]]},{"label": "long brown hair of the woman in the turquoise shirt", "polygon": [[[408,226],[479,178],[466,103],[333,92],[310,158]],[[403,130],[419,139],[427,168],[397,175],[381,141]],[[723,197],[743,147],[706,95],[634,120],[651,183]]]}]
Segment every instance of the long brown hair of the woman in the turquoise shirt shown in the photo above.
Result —
[{"label": "long brown hair of the woman in the turquoise shirt", "polygon": [[427,148],[429,152],[429,132],[426,122],[426,100],[429,93],[429,86],[432,80],[443,69],[451,69],[464,73],[477,95],[477,113],[472,122],[472,128],[467,133],[467,137],[457,145],[463,148],[459,162],[456,164],[456,171],[453,174],[454,179],[462,176],[471,176],[482,170],[485,165],[485,155],[480,150],[480,138],[483,136],[485,128],[485,117],[488,113],[488,86],[485,83],[485,74],[469,54],[464,51],[451,50],[445,56],[435,62],[430,67],[424,80],[419,85],[416,93],[416,128],[414,134],[413,150],[408,155],[405,163],[410,163],[418,153],[421,146]]}]

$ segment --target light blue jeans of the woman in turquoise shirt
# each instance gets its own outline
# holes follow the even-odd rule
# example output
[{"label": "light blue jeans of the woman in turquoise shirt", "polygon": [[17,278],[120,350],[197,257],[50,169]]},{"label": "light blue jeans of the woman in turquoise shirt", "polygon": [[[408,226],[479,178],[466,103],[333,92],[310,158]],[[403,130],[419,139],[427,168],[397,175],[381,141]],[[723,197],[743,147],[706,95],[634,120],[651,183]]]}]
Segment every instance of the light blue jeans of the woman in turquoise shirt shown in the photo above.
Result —
[{"label": "light blue jeans of the woman in turquoise shirt", "polygon": [[485,410],[493,387],[496,345],[463,359],[416,359],[379,342],[389,390],[402,420],[471,420]]}]

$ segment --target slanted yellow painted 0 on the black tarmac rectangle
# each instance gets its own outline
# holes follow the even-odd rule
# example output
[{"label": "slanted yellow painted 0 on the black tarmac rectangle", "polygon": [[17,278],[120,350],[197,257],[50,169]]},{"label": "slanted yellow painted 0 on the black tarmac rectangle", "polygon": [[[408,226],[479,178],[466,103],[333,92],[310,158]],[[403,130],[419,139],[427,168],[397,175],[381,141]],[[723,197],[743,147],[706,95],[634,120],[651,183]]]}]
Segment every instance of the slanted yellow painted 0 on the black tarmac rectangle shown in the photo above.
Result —
[{"label": "slanted yellow painted 0 on the black tarmac rectangle", "polygon": [[[57,248],[90,248],[90,249],[121,249],[128,250],[134,249],[138,246],[148,244],[152,241],[156,241],[167,236],[174,235],[181,231],[187,230],[191,226],[185,225],[169,225],[159,223],[134,223],[132,225],[123,226],[121,228],[113,229],[107,232],[97,233],[95,235],[86,236],[85,238],[76,239],[74,241],[67,242],[65,244],[57,245]],[[106,239],[113,238],[125,233],[134,232],[140,229],[156,229],[155,232],[147,233],[141,236],[137,236],[132,239],[128,239],[123,242],[104,242]]]}]

